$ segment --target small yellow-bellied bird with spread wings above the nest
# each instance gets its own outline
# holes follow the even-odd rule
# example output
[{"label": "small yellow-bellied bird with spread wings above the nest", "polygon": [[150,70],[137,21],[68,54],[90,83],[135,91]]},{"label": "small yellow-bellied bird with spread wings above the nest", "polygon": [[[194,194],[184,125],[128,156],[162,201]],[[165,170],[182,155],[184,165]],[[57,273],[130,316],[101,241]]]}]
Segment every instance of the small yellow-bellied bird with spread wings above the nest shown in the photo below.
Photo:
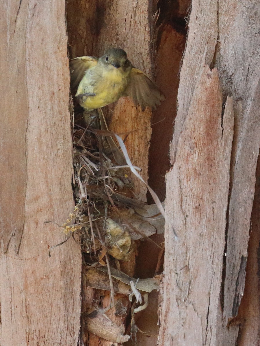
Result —
[{"label": "small yellow-bellied bird with spread wings above the nest", "polygon": [[100,58],[72,59],[70,69],[71,90],[86,111],[104,107],[122,96],[130,96],[142,110],[156,109],[165,100],[154,82],[132,66],[123,49],[111,48]]}]

